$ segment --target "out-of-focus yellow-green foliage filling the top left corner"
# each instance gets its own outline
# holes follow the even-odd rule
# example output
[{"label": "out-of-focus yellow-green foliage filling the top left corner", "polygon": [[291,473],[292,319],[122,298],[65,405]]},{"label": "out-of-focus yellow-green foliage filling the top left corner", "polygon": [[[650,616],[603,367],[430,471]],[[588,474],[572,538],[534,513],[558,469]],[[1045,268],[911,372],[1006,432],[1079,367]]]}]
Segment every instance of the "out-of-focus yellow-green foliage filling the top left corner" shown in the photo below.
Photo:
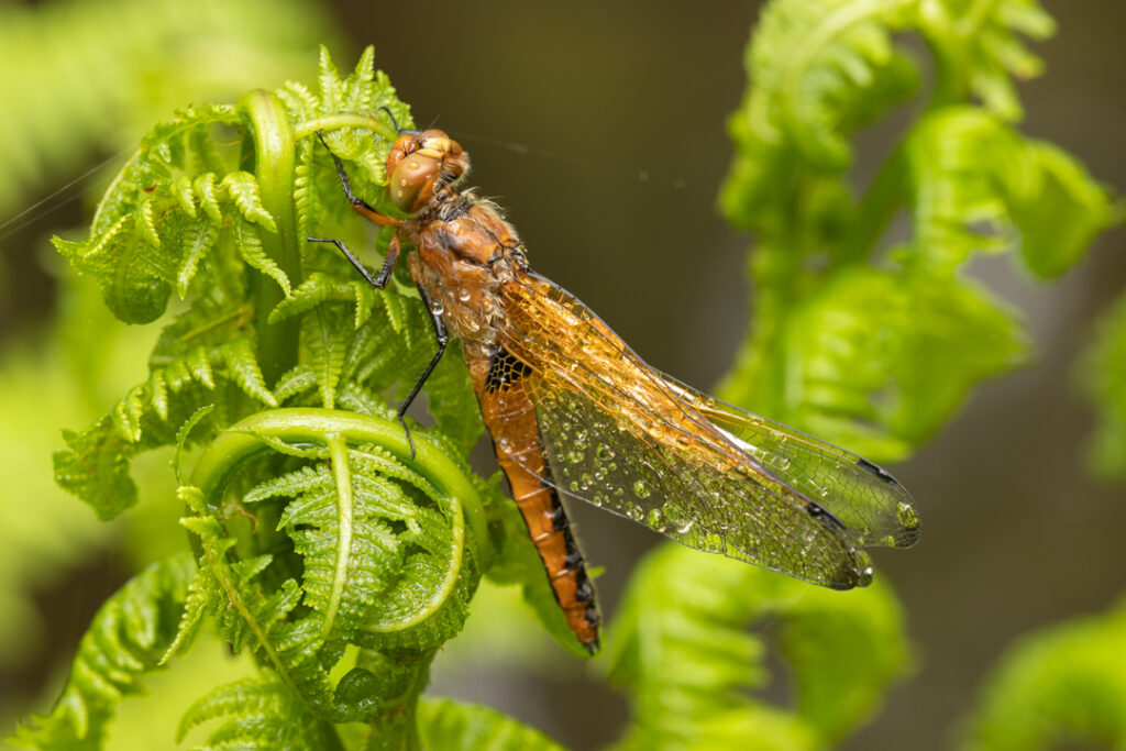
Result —
[{"label": "out-of-focus yellow-green foliage filling the top left corner", "polygon": [[0,123],[0,216],[45,177],[77,175],[185,101],[280,82],[312,45],[334,36],[324,15],[300,0],[3,3],[2,91],[20,116]]}]

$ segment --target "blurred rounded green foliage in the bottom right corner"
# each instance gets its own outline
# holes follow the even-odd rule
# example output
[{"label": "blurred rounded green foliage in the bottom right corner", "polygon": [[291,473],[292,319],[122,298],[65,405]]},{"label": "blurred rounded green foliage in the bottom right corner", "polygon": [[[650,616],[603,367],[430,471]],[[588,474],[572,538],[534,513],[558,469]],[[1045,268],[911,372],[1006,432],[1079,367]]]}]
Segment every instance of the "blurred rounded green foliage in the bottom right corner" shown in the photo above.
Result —
[{"label": "blurred rounded green foliage in the bottom right corner", "polygon": [[962,748],[1126,746],[1123,644],[1126,602],[1024,637],[986,679]]}]

